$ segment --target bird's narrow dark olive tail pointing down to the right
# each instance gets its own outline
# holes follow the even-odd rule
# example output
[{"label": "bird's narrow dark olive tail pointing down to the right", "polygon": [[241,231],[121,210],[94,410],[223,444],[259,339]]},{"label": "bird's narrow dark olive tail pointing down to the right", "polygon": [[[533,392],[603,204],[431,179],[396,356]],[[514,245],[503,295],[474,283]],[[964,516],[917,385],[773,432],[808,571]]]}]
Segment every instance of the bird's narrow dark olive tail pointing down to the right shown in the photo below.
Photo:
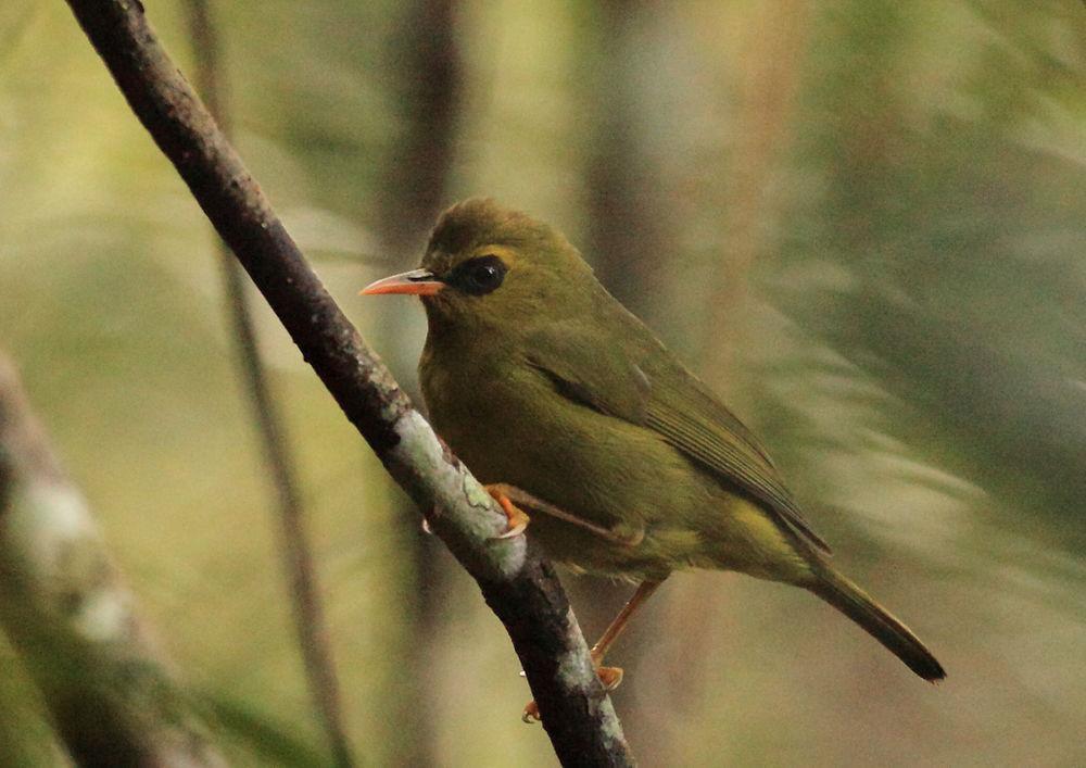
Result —
[{"label": "bird's narrow dark olive tail pointing down to the right", "polygon": [[818,569],[813,583],[805,586],[860,625],[924,680],[935,682],[946,677],[943,666],[908,627],[841,574],[822,567]]}]

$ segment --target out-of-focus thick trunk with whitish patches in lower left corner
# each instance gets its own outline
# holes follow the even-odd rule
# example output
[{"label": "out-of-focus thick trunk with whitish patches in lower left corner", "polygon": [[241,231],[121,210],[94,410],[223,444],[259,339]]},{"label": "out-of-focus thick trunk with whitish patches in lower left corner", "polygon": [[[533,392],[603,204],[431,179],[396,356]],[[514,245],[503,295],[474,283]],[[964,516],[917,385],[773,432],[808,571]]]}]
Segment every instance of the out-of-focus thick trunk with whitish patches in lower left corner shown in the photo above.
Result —
[{"label": "out-of-focus thick trunk with whitish patches in lower left corner", "polygon": [[0,626],[78,765],[226,765],[2,357]]}]

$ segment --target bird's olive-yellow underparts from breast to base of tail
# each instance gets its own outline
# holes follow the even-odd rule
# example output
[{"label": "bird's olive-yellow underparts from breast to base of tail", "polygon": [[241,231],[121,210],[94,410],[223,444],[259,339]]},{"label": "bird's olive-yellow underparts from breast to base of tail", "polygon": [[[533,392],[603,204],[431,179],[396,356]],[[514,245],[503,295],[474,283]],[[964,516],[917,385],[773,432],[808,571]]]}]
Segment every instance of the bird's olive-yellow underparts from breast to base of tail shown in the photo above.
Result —
[{"label": "bird's olive-yellow underparts from breast to base of tail", "polygon": [[532,514],[530,536],[556,561],[630,579],[689,567],[781,578],[798,563],[762,511],[649,429],[532,379],[482,377],[458,392],[431,381],[424,392],[434,428],[482,482],[516,486],[635,542]]}]

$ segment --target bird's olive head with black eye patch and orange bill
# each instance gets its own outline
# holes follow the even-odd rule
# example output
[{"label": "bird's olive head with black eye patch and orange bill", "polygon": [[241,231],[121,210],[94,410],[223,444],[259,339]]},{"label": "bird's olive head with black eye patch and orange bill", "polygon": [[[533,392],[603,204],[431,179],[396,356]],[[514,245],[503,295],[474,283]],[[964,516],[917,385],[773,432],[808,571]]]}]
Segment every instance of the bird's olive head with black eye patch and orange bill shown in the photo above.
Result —
[{"label": "bird's olive head with black eye patch and orange bill", "polygon": [[362,293],[420,297],[431,330],[507,330],[580,312],[597,288],[591,268],[556,229],[472,198],[441,215],[418,269]]}]

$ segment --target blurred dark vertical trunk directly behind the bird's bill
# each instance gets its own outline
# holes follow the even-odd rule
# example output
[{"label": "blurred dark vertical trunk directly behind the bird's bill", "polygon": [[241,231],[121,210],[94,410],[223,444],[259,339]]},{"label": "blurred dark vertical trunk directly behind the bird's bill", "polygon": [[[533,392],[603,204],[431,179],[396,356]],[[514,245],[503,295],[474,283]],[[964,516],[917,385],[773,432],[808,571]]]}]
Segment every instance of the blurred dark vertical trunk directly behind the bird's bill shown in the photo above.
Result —
[{"label": "blurred dark vertical trunk directly behind the bird's bill", "polygon": [[[450,179],[463,90],[455,24],[458,5],[458,0],[400,3],[396,30],[387,43],[400,128],[384,159],[375,218],[380,250],[397,265],[396,270],[418,259]],[[405,343],[412,330],[394,312],[379,316],[375,332],[380,332],[389,350],[386,358],[395,370],[414,364],[407,358],[411,344]],[[430,712],[430,700],[441,677],[438,646],[447,602],[445,587],[455,566],[441,556],[441,543],[417,525],[418,513],[411,501],[392,503],[395,519],[409,525],[401,540],[401,562],[414,580],[415,599],[404,601],[407,640],[397,659],[411,666],[414,679],[396,685],[390,725],[399,729],[400,738],[393,740],[390,760],[434,765],[441,761],[437,753],[440,723]]]}]

